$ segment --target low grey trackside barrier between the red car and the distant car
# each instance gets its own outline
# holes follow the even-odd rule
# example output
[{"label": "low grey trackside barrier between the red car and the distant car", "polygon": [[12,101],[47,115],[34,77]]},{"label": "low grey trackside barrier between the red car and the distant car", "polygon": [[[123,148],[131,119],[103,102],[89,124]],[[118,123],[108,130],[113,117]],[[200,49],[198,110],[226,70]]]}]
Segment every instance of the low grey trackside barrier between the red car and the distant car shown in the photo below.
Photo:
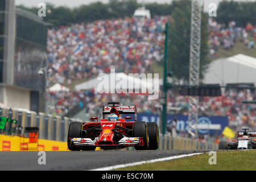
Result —
[{"label": "low grey trackside barrier between the red car and the distant car", "polygon": [[218,144],[190,138],[159,135],[159,150],[218,150]]}]

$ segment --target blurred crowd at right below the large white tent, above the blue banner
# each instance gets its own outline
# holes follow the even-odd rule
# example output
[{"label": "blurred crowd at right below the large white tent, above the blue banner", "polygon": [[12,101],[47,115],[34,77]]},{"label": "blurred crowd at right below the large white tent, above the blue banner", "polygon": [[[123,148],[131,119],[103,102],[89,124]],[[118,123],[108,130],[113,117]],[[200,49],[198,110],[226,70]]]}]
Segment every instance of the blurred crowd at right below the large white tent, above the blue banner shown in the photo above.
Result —
[{"label": "blurred crowd at right below the large white tent, above the blue banner", "polygon": [[[169,95],[169,106],[181,107],[181,114],[188,114],[188,97]],[[242,126],[256,128],[256,105],[242,104],[242,101],[255,101],[256,91],[250,89],[226,90],[220,97],[200,97],[199,115],[228,116],[229,126],[234,130]]]}]

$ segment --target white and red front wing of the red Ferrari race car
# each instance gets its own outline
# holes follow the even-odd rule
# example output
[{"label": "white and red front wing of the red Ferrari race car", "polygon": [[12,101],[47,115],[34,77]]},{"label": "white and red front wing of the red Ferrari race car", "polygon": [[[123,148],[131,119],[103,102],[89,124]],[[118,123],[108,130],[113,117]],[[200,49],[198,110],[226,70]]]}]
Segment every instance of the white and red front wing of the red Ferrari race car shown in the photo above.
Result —
[{"label": "white and red front wing of the red Ferrari race car", "polygon": [[129,146],[144,146],[143,137],[123,137],[118,144],[95,144],[90,138],[69,138],[70,146],[95,146],[95,147],[129,147]]}]

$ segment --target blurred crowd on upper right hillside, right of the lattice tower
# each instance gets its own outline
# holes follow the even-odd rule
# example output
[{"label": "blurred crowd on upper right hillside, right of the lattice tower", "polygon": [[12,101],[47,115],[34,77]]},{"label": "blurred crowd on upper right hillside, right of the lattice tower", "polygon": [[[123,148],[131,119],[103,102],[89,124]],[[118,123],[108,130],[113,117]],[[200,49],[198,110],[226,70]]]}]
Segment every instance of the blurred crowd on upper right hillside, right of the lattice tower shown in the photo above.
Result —
[{"label": "blurred crowd on upper right hillside, right of the lattice tower", "polygon": [[245,44],[249,49],[255,48],[256,25],[247,23],[246,27],[237,27],[236,22],[217,23],[214,19],[208,19],[210,30],[210,56],[212,58],[218,55],[218,49],[224,48],[230,50],[234,44],[239,41]]}]

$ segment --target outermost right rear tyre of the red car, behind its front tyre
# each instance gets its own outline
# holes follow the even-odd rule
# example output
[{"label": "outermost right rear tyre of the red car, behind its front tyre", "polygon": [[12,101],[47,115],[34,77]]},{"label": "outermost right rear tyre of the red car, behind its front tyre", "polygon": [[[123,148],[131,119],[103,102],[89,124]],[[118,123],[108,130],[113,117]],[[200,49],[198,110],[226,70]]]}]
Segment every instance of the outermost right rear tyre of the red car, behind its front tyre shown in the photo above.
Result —
[{"label": "outermost right rear tyre of the red car, behind its front tyre", "polygon": [[155,122],[147,123],[148,130],[148,150],[156,150],[159,147],[159,133],[158,133],[158,124]]}]

